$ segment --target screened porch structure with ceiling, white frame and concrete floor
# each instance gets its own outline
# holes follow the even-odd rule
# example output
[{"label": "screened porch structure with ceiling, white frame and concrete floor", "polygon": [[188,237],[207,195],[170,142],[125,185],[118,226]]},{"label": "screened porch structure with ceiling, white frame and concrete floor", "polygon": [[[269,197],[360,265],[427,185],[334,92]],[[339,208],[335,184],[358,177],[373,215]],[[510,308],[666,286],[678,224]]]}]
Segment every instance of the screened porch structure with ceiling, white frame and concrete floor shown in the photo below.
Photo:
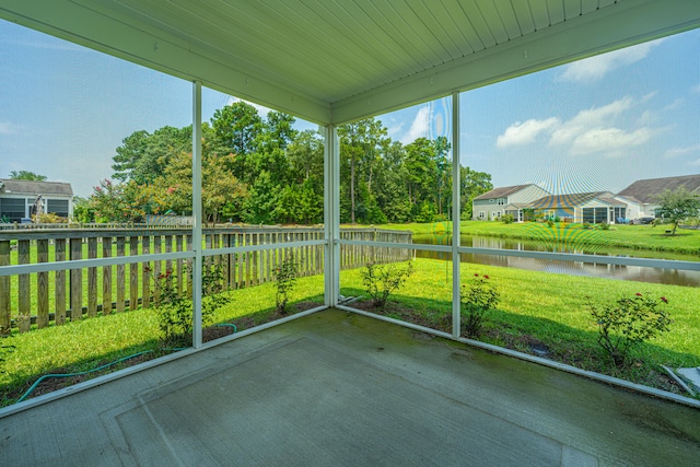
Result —
[{"label": "screened porch structure with ceiling, white frame and concrete floor", "polygon": [[[342,247],[397,247],[341,236],[339,126],[447,97],[459,154],[462,93],[700,27],[693,0],[508,3],[3,1],[3,20],[191,83],[197,247],[82,260],[85,268],[192,260],[194,349],[9,408],[0,416],[0,464],[698,465],[700,411],[690,405],[360,314],[330,308],[202,345],[200,265],[281,245],[199,247],[202,87],[319,125],[323,238],[284,247],[323,246],[324,303],[332,307]],[[459,163],[452,157],[453,173]],[[453,184],[452,219],[460,217],[459,190]],[[454,223],[452,237],[459,233]],[[479,250],[458,242],[412,248],[453,258]],[[9,290],[12,275],[65,269],[0,261],[0,289]],[[459,287],[455,261],[455,338]],[[9,322],[10,301],[0,305]]]}]

